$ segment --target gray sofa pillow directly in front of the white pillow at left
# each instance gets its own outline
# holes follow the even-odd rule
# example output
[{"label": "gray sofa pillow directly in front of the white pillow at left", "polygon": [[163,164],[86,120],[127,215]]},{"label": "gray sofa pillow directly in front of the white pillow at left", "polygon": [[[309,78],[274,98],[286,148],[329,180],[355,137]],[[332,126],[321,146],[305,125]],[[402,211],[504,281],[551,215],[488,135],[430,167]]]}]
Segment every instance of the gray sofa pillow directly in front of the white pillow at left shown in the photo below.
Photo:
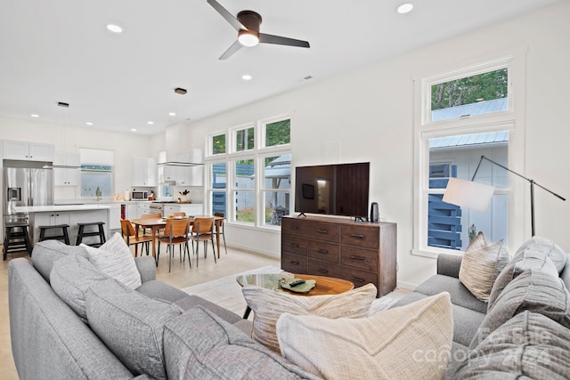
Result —
[{"label": "gray sofa pillow directly in front of the white pillow at left", "polygon": [[68,255],[53,263],[50,274],[53,291],[87,321],[85,294],[92,285],[110,279],[80,255]]}]

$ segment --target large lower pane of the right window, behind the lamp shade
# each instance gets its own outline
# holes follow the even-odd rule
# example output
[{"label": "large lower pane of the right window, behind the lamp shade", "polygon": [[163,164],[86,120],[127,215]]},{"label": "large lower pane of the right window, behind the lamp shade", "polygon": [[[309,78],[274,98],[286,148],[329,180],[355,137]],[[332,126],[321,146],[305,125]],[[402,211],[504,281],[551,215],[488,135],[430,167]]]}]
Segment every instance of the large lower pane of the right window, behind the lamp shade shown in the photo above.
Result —
[{"label": "large lower pane of the right window, behind the lamp shade", "polygon": [[[473,133],[429,140],[429,189],[445,189],[450,177],[470,181],[481,156],[508,166],[509,133]],[[508,172],[484,161],[475,182],[507,189]],[[443,194],[428,195],[428,246],[466,249],[469,239],[483,231],[490,241],[507,240],[508,197],[495,194],[485,212],[451,205],[442,201]]]}]

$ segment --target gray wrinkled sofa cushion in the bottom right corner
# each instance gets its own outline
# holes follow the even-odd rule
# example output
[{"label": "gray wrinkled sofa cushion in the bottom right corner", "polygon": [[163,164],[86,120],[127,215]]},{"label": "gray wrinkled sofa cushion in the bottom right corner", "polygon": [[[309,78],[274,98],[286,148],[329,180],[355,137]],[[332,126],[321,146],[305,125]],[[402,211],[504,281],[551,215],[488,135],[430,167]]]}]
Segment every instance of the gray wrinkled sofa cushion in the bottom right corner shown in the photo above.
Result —
[{"label": "gray wrinkled sofa cushion in the bottom right corner", "polygon": [[493,331],[469,353],[454,379],[565,379],[570,330],[523,311]]}]

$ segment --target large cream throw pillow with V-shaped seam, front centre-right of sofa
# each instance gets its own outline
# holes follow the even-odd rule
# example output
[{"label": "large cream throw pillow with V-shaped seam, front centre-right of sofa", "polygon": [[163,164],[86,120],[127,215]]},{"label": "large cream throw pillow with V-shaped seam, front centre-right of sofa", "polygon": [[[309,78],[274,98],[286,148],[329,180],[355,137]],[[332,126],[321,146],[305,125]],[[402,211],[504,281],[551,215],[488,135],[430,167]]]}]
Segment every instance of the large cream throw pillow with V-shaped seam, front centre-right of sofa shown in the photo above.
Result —
[{"label": "large cream throw pillow with V-shaped seam, front centre-right of sofa", "polygon": [[452,303],[440,293],[362,319],[285,313],[277,336],[284,358],[329,380],[439,380],[451,352]]}]

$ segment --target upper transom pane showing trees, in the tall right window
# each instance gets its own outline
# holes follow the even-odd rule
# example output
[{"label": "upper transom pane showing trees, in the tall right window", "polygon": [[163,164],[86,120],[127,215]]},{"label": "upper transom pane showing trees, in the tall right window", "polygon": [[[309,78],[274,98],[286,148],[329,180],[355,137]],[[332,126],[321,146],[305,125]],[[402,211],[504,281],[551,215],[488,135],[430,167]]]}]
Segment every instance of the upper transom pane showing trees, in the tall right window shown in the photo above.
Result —
[{"label": "upper transom pane showing trees, in the tall right window", "polygon": [[449,120],[508,109],[508,69],[431,86],[431,120]]}]

